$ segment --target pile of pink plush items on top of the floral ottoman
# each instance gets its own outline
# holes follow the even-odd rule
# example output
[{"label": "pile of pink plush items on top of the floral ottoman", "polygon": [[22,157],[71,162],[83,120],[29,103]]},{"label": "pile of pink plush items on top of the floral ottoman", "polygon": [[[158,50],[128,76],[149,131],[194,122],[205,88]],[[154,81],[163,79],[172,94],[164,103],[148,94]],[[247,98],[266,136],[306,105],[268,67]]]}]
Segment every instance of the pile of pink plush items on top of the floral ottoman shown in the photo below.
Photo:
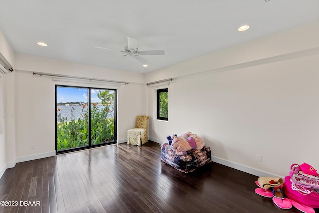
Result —
[{"label": "pile of pink plush items on top of the floral ottoman", "polygon": [[186,155],[187,151],[191,149],[201,150],[205,145],[203,138],[192,132],[187,132],[180,136],[174,134],[173,137],[169,135],[167,140],[177,155]]}]

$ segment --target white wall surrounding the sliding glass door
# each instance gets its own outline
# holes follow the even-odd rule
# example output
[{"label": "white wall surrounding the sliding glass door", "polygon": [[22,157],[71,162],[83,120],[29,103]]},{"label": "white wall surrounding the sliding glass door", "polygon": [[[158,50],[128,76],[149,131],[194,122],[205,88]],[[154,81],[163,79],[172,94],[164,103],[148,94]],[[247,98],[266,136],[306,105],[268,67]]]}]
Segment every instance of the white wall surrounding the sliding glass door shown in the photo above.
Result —
[{"label": "white wall surrounding the sliding glass door", "polygon": [[[135,117],[144,113],[142,74],[24,54],[16,54],[15,60],[14,89],[8,91],[15,103],[15,125],[7,130],[15,132],[15,144],[8,144],[6,153],[10,166],[15,162],[55,155],[55,84],[117,89],[118,142],[126,142],[127,129],[134,127]],[[52,81],[52,77],[40,77],[33,72],[128,81],[129,84],[73,82],[70,79]],[[31,144],[35,144],[35,149],[31,149]]]}]

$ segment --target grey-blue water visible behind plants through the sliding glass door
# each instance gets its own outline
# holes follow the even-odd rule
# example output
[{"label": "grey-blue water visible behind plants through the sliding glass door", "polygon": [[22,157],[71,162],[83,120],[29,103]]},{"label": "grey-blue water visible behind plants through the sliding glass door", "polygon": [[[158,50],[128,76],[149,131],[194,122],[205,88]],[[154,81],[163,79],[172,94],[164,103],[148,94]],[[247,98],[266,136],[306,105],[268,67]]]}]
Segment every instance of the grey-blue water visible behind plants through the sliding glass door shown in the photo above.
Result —
[{"label": "grey-blue water visible behind plants through the sliding glass door", "polygon": [[[58,109],[61,109],[60,111],[57,112],[57,114],[61,113],[62,117],[66,117],[67,121],[71,121],[71,116],[72,116],[72,107],[74,108],[73,110],[73,119],[74,120],[78,120],[80,117],[82,117],[82,115],[84,115],[87,111],[87,107],[84,108],[82,106],[57,106]],[[97,106],[100,110],[104,109],[104,106]],[[110,106],[110,111],[108,113],[108,117],[109,118],[114,118],[114,110],[113,110],[113,106]],[[83,112],[82,112],[83,110]]]}]

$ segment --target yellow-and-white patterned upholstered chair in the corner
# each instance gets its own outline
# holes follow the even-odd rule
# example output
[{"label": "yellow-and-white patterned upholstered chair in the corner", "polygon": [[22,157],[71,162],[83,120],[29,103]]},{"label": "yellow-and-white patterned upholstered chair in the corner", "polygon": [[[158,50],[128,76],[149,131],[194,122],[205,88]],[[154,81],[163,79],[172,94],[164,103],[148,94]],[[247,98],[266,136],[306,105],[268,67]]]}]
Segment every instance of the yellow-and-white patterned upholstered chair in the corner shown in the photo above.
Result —
[{"label": "yellow-and-white patterned upholstered chair in the corner", "polygon": [[128,130],[128,144],[142,146],[148,142],[149,116],[136,116],[135,128]]}]

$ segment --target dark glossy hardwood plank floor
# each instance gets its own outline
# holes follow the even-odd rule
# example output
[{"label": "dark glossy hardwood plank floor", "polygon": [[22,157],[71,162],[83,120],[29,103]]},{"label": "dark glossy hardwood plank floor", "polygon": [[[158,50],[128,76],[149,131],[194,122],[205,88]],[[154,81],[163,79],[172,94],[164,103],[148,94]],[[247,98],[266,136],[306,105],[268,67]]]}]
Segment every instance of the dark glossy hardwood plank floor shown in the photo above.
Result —
[{"label": "dark glossy hardwood plank floor", "polygon": [[257,178],[214,162],[184,174],[158,143],[115,144],[7,169],[0,201],[18,204],[0,213],[300,213],[255,194]]}]

